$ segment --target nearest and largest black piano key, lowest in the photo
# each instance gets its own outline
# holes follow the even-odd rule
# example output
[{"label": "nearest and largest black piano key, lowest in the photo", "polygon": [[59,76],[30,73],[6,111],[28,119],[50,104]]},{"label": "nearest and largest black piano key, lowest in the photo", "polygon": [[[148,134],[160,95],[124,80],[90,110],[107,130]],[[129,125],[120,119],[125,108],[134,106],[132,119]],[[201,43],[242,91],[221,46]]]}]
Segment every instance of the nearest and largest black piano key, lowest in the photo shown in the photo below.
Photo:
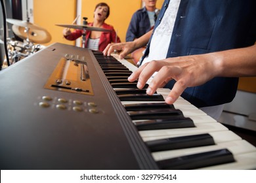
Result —
[{"label": "nearest and largest black piano key, lowest in the photo", "polygon": [[221,165],[234,162],[232,153],[227,149],[214,150],[178,158],[164,159],[156,161],[160,169],[188,170]]}]

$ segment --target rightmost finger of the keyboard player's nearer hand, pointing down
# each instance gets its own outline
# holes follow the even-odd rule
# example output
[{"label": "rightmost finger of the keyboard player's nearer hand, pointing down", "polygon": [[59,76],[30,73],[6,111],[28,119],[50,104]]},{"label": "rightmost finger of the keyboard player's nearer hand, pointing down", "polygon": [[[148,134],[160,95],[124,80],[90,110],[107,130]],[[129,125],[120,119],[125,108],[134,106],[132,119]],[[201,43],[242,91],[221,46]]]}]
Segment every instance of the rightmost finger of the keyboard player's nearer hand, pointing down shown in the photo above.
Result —
[{"label": "rightmost finger of the keyboard player's nearer hand, pointing down", "polygon": [[169,95],[166,97],[165,102],[168,104],[175,103],[175,101],[177,101],[179,96],[181,96],[181,94],[184,92],[186,87],[187,87],[186,83],[183,80],[178,80],[174,84],[173,89],[171,90]]}]

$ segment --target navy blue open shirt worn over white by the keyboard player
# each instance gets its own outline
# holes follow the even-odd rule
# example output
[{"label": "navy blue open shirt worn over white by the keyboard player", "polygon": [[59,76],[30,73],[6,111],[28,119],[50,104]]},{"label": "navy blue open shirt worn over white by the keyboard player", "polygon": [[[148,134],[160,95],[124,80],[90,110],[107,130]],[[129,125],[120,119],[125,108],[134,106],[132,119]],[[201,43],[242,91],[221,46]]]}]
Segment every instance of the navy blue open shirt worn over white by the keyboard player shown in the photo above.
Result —
[{"label": "navy blue open shirt worn over white by the keyboard player", "polygon": [[[169,1],[164,1],[155,29]],[[256,41],[255,7],[255,0],[181,0],[166,58],[253,45]],[[143,58],[148,55],[149,47],[150,42]],[[175,80],[171,80],[165,88],[171,89],[174,84]],[[217,77],[202,86],[186,88],[181,96],[196,107],[221,105],[234,99],[237,86],[238,78]]]}]

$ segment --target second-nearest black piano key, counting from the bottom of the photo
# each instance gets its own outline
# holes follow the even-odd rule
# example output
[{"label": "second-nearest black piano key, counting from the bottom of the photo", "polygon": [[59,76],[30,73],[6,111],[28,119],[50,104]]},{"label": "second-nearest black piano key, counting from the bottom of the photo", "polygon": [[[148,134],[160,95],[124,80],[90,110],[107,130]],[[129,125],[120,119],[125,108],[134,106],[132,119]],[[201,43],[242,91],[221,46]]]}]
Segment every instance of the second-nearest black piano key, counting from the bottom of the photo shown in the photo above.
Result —
[{"label": "second-nearest black piano key, counting from the bottom of the photo", "polygon": [[211,135],[204,133],[200,135],[188,135],[183,137],[173,137],[168,139],[159,139],[155,141],[148,141],[146,145],[151,152],[158,152],[163,150],[175,150],[182,148],[194,148],[200,146],[211,146],[215,142]]}]

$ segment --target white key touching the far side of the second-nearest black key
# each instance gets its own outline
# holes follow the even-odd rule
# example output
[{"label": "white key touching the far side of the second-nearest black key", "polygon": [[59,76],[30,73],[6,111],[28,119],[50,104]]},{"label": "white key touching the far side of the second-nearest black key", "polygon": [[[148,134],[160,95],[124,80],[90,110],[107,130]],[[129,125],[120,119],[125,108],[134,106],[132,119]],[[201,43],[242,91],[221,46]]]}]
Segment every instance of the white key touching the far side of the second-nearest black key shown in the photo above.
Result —
[{"label": "white key touching the far side of the second-nearest black key", "polygon": [[[207,132],[208,133],[208,132]],[[182,137],[182,136],[187,136],[187,135],[200,135],[202,133],[190,133],[190,134],[186,134],[186,135],[166,135],[166,136],[157,136],[157,137],[145,137],[143,138],[144,142],[146,141],[154,141],[154,140],[158,140],[158,139],[167,139],[167,138],[173,138],[173,137]],[[219,144],[221,142],[228,142],[228,141],[238,141],[238,140],[242,140],[242,138],[238,135],[236,135],[236,133],[233,133],[232,131],[213,131],[213,132],[209,132],[209,135],[211,135],[211,137],[213,137],[213,140],[215,142],[215,144]]]}]

